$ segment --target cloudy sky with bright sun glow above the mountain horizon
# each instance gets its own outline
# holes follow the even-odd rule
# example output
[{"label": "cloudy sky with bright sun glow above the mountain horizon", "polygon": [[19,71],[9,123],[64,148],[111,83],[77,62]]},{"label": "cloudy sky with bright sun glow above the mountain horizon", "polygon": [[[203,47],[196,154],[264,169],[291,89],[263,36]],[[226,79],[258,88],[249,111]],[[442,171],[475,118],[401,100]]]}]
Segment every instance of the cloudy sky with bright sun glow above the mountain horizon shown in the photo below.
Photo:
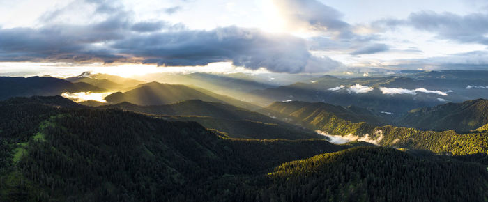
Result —
[{"label": "cloudy sky with bright sun glow above the mountain horizon", "polygon": [[488,1],[0,0],[0,76],[488,70]]}]

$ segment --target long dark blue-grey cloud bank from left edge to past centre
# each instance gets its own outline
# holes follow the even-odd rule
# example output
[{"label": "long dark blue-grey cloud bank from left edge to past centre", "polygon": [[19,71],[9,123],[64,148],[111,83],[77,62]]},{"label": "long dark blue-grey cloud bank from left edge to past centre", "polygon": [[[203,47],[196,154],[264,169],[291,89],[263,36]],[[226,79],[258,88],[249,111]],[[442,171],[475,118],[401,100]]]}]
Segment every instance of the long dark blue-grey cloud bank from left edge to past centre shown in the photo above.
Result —
[{"label": "long dark blue-grey cloud bank from left edge to past centre", "polygon": [[[103,20],[88,24],[49,24],[37,29],[0,29],[0,61],[64,63],[153,63],[194,66],[231,61],[271,72],[327,72],[342,63],[313,56],[296,36],[237,26],[188,30],[165,21],[135,22],[111,1],[87,1]],[[68,6],[66,9],[75,8]],[[56,10],[53,19],[66,13]]]}]

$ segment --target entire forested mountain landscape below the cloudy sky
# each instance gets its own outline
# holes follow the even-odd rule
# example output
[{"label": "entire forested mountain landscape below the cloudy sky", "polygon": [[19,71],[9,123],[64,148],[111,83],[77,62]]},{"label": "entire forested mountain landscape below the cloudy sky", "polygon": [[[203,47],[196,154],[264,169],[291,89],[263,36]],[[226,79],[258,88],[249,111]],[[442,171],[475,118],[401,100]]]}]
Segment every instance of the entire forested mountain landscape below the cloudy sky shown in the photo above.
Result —
[{"label": "entire forested mountain landscape below the cloudy sky", "polygon": [[486,201],[487,78],[0,77],[0,201]]}]

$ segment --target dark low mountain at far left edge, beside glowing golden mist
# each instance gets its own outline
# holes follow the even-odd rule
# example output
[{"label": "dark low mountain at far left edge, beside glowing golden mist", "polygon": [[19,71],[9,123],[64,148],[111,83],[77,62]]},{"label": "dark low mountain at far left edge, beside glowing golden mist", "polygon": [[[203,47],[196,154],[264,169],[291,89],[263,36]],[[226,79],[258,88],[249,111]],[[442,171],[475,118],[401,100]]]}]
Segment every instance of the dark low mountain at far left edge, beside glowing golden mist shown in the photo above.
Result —
[{"label": "dark low mountain at far left edge, beside glowing golden mist", "polygon": [[61,95],[61,93],[103,92],[84,82],[73,84],[70,81],[53,77],[0,77],[0,100],[32,95]]}]

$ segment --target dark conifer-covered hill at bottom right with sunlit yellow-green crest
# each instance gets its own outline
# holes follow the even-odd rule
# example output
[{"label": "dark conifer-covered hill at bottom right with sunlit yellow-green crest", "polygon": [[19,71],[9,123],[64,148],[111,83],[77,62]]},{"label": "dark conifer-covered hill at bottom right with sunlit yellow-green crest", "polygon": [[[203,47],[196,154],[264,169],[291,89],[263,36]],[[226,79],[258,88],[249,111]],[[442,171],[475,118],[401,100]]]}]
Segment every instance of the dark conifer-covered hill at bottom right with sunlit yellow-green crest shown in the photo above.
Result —
[{"label": "dark conifer-covered hill at bottom right with sunlit yellow-green crest", "polygon": [[261,190],[276,201],[485,201],[488,197],[484,166],[413,157],[392,148],[316,155],[284,163],[268,175],[272,182]]}]

